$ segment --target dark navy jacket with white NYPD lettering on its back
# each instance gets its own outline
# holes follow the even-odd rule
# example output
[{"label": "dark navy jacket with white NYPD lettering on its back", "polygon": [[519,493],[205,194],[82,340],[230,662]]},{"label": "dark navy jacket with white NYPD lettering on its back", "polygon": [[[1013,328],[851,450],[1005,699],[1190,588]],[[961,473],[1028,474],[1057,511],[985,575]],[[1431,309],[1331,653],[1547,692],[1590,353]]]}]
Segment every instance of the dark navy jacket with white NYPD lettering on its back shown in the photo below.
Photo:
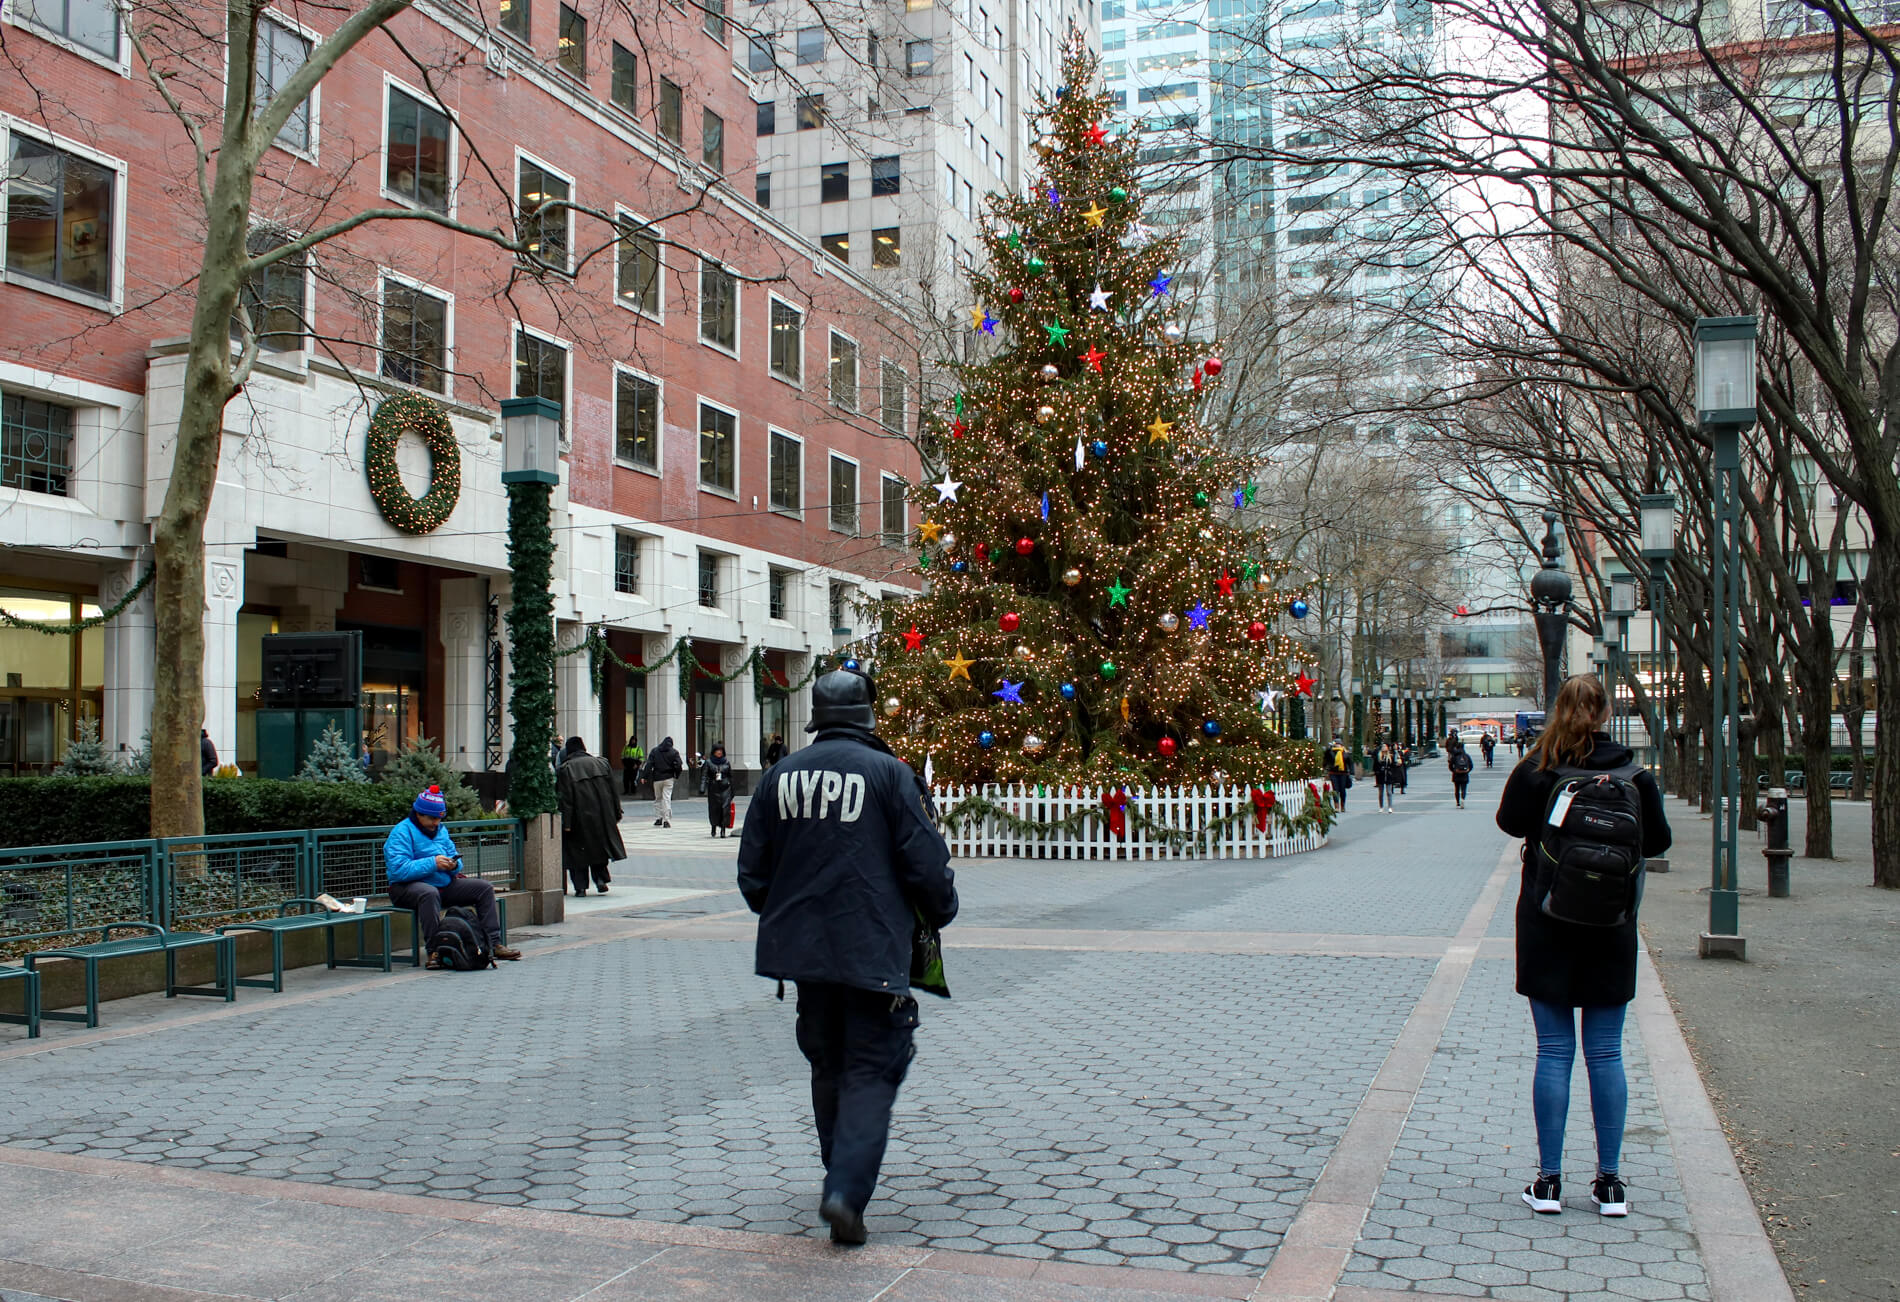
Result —
[{"label": "dark navy jacket with white NYPD lettering on its back", "polygon": [[758,914],[758,975],[861,990],[910,986],[912,907],[939,928],[958,909],[922,783],[853,728],[819,732],[760,781],[739,891]]}]

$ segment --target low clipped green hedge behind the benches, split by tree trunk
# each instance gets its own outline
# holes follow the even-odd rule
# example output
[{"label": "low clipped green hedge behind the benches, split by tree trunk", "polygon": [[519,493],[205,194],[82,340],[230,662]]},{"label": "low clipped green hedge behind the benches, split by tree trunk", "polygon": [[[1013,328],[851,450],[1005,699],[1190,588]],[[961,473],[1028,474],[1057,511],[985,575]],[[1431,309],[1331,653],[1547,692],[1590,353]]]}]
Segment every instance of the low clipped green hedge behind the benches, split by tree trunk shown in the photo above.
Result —
[{"label": "low clipped green hedge behind the benches, split by tree trunk", "polygon": [[[207,777],[207,833],[395,823],[414,795],[372,783]],[[142,840],[152,834],[150,777],[0,779],[0,846]]]}]

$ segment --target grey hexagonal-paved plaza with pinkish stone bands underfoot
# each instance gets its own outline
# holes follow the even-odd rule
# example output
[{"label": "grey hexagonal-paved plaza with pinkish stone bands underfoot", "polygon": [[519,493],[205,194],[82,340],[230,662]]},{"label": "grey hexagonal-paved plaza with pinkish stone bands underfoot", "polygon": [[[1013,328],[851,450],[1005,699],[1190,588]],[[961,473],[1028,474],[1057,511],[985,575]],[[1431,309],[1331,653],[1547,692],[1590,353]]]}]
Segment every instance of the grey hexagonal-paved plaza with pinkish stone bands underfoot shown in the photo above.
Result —
[{"label": "grey hexagonal-paved plaza with pinkish stone bands underfoot", "polygon": [[1581,1070],[1568,1211],[1518,1201],[1503,772],[1459,812],[1419,770],[1273,863],[958,863],[956,1000],[851,1254],[737,842],[631,836],[618,895],[500,971],[6,1036],[0,1296],[1788,1296],[1647,960],[1632,1215],[1590,1213]]}]

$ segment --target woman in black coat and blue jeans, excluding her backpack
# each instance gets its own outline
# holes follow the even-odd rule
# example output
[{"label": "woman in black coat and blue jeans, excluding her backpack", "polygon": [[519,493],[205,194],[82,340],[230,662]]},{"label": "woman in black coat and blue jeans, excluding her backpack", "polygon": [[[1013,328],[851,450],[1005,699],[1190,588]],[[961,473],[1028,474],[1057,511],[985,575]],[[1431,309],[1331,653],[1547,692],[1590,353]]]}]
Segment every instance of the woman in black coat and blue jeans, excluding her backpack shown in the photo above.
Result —
[{"label": "woman in black coat and blue jeans, excluding her backpack", "polygon": [[[1609,739],[1609,698],[1592,675],[1569,679],[1550,705],[1545,730],[1531,753],[1510,770],[1497,802],[1497,827],[1524,838],[1524,876],[1518,886],[1518,994],[1531,1002],[1537,1028],[1537,1074],[1531,1080],[1531,1114],[1537,1120],[1537,1178],[1524,1201],[1539,1213],[1564,1211],[1564,1123],[1569,1112],[1569,1076],[1577,1061],[1577,1026],[1583,1024],[1583,1063],[1590,1076],[1590,1114],[1596,1120],[1596,1180],[1590,1201],[1606,1216],[1628,1213],[1628,1190],[1617,1173],[1623,1121],[1630,1091],[1623,1074],[1623,1015],[1636,998],[1636,909],[1615,928],[1588,928],[1550,918],[1539,907],[1548,888],[1541,872],[1543,833],[1550,796],[1564,770],[1613,770],[1632,762],[1630,749]],[[1670,848],[1662,791],[1649,770],[1636,770],[1642,802],[1642,853]],[[1636,903],[1642,903],[1642,872]]]}]

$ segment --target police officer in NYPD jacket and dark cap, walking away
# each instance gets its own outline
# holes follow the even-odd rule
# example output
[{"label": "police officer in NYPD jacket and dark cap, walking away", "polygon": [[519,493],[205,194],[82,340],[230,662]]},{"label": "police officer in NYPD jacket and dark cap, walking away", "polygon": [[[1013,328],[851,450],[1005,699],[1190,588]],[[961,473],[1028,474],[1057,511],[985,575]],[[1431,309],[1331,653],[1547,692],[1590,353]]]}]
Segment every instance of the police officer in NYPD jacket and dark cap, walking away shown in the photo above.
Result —
[{"label": "police officer in NYPD jacket and dark cap, walking away", "polygon": [[819,1215],[838,1243],[864,1241],[891,1104],[916,1053],[916,914],[942,928],[958,907],[923,783],[872,736],[876,698],[851,669],[813,684],[806,732],[817,741],[766,774],[739,842],[739,890],[758,914],[756,971],[798,985],[798,1049],[811,1063],[825,1159]]}]

